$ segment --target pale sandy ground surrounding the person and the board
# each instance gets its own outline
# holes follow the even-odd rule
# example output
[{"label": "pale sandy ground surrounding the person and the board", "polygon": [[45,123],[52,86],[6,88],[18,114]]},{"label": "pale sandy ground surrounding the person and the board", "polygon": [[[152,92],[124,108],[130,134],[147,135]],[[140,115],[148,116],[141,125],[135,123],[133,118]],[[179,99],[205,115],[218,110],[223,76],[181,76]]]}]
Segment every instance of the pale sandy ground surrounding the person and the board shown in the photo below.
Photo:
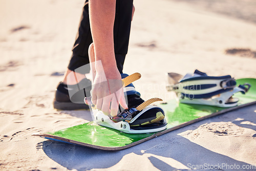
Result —
[{"label": "pale sandy ground surrounding the person and the board", "polygon": [[[52,106],[83,3],[0,0],[1,170],[256,170],[255,105],[117,152],[32,137],[92,120],[89,111]],[[142,74],[134,84],[144,99],[173,97],[165,90],[167,72],[256,78],[253,0],[134,5],[124,72]]]}]

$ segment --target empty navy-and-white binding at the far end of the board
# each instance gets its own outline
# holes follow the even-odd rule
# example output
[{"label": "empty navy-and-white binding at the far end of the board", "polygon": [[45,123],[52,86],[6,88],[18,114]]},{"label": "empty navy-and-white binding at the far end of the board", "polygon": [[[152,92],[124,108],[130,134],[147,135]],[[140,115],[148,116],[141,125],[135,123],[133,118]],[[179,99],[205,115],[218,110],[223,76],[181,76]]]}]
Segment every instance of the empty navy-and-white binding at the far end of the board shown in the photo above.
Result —
[{"label": "empty navy-and-white binding at the far end of the board", "polygon": [[194,74],[184,77],[176,73],[168,73],[168,91],[175,91],[180,103],[203,104],[230,108],[238,105],[235,93],[245,94],[250,84],[236,86],[237,82],[230,75],[208,76],[206,73],[195,70]]}]

